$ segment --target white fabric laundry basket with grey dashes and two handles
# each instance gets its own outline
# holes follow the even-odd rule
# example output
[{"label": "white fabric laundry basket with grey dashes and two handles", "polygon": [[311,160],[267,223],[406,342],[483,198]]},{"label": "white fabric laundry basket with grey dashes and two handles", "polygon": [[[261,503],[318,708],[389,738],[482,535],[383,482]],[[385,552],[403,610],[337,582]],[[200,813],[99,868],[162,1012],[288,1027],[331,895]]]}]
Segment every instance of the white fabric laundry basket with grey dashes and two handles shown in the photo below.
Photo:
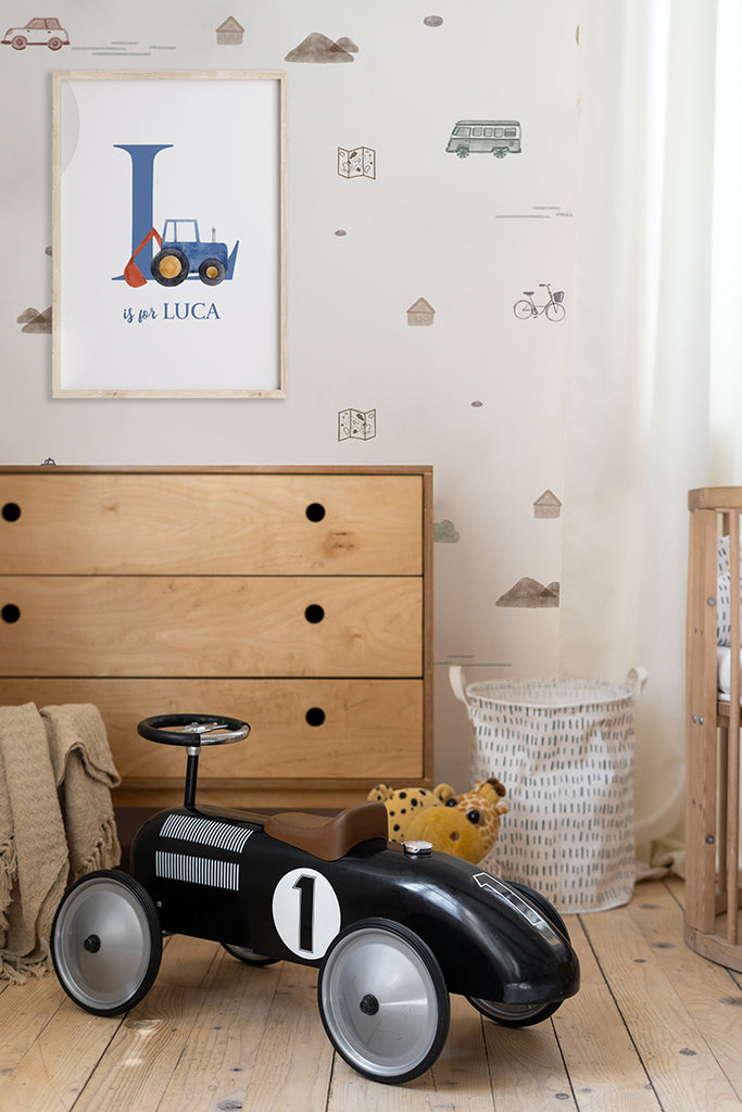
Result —
[{"label": "white fabric laundry basket with grey dashes and two handles", "polygon": [[468,684],[449,669],[473,726],[472,780],[497,776],[508,813],[483,864],[563,912],[627,903],[634,887],[634,703],[623,684],[513,679]]}]

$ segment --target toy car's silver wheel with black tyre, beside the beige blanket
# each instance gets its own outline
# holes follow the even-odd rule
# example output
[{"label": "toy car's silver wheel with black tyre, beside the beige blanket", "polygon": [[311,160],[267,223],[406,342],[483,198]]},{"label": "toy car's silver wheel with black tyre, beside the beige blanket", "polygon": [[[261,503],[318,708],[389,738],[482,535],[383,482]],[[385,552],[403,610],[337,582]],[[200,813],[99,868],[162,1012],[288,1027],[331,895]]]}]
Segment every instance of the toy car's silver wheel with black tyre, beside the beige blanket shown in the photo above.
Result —
[{"label": "toy car's silver wheel with black tyre, beside the beige blanket", "polygon": [[151,896],[125,873],[83,876],[62,898],[51,929],[60,984],[93,1015],[127,1012],[149,992],[162,956]]}]

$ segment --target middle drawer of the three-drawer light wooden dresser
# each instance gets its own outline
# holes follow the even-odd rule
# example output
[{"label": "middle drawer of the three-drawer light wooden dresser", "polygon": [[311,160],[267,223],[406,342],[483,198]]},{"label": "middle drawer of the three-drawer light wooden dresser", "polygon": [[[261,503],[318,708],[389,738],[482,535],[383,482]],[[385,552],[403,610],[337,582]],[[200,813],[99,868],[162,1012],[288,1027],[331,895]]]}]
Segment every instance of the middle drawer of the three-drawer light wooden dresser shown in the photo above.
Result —
[{"label": "middle drawer of the three-drawer light wooden dresser", "polygon": [[423,675],[413,577],[0,576],[0,616],[1,675]]}]

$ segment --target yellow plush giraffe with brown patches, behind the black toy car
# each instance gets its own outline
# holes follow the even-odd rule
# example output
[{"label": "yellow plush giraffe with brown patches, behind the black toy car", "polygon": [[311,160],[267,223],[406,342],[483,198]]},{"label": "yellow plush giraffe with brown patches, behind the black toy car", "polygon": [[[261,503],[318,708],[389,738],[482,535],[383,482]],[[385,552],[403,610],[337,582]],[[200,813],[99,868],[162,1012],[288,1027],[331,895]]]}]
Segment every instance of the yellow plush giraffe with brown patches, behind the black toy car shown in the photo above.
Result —
[{"label": "yellow plush giraffe with brown patches, behind the black toy car", "polygon": [[479,780],[471,792],[452,796],[443,807],[416,812],[406,836],[476,864],[495,844],[501,816],[507,812],[505,794],[495,776]]}]

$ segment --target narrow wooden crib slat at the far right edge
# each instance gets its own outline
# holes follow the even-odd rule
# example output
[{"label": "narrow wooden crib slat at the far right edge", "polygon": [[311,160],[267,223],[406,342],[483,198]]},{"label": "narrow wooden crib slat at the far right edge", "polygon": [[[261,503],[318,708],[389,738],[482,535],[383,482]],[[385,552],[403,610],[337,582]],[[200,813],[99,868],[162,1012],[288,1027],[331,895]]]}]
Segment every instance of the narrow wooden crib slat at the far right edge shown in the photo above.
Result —
[{"label": "narrow wooden crib slat at the far right edge", "polygon": [[731,675],[726,752],[726,941],[738,942],[740,853],[740,514],[730,514]]}]

